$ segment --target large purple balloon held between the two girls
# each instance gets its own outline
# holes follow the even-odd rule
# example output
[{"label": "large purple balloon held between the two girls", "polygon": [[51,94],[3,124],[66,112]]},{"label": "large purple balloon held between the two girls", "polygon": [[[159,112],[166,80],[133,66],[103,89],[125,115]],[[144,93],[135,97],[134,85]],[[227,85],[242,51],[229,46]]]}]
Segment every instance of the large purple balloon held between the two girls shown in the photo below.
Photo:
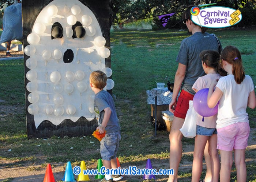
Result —
[{"label": "large purple balloon held between the two girls", "polygon": [[207,96],[209,88],[203,88],[196,92],[193,98],[193,106],[198,114],[204,117],[213,116],[218,113],[218,105],[216,104],[214,108],[209,108],[207,105]]}]

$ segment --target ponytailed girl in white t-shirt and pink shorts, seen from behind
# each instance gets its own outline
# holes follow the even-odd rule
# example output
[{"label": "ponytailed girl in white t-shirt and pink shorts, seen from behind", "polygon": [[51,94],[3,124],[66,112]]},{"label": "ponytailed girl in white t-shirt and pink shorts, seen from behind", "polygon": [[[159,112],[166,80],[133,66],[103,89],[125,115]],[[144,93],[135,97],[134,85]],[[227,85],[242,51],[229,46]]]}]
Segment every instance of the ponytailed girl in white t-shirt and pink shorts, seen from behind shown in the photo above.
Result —
[{"label": "ponytailed girl in white t-shirt and pink shorts, seen from behind", "polygon": [[250,132],[246,107],[253,109],[256,106],[254,85],[252,78],[245,75],[241,54],[236,47],[227,46],[223,49],[221,66],[228,75],[211,83],[207,98],[210,108],[219,101],[217,149],[221,153],[220,181],[230,181],[232,150],[237,181],[246,181],[245,148]]}]

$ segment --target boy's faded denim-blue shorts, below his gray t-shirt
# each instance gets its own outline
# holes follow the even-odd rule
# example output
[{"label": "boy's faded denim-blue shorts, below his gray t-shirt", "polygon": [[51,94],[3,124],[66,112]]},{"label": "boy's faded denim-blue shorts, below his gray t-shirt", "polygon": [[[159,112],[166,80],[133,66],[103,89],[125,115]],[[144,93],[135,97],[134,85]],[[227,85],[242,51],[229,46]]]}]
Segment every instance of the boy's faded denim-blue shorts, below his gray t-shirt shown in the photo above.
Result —
[{"label": "boy's faded denim-blue shorts, below his gray t-shirt", "polygon": [[121,139],[120,131],[108,133],[101,140],[101,158],[105,161],[111,161],[116,158]]}]

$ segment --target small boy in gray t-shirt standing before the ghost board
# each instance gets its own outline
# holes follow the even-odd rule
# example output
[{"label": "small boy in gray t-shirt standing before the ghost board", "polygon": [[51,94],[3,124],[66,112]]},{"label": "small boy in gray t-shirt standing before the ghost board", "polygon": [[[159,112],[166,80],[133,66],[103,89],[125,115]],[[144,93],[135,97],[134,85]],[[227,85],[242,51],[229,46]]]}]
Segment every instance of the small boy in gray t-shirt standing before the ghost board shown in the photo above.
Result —
[{"label": "small boy in gray t-shirt standing before the ghost board", "polygon": [[[90,86],[95,93],[94,111],[99,126],[97,129],[106,135],[101,140],[101,158],[106,169],[117,169],[116,153],[121,139],[119,120],[114,100],[109,92],[103,90],[107,76],[102,71],[94,71],[90,75]],[[105,175],[101,182],[113,182],[122,179],[121,175]]]}]

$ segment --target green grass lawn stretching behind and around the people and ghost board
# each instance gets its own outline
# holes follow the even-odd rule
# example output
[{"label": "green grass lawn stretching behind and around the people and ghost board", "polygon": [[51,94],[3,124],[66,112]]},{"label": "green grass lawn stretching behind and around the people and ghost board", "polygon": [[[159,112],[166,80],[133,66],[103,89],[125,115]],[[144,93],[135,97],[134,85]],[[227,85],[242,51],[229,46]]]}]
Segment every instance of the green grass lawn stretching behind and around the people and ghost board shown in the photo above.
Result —
[{"label": "green grass lawn stretching behind and around the people and ghost board", "polygon": [[[256,29],[210,29],[222,43],[222,47],[236,46],[242,53],[246,74],[256,85]],[[157,141],[151,137],[154,128],[150,122],[150,105],[146,103],[146,90],[156,87],[155,82],[174,81],[178,66],[175,61],[181,40],[189,36],[187,30],[112,30],[110,32],[112,79],[115,82],[113,94],[121,124],[120,149],[118,159],[121,166],[145,167],[148,158],[153,167],[169,167],[169,138],[167,131],[157,131]],[[166,80],[166,76],[168,79]],[[0,111],[0,159],[16,161],[9,167],[24,165],[26,162],[72,162],[79,165],[85,160],[87,169],[95,168],[100,158],[99,142],[92,136],[75,138],[30,139],[26,135],[25,86],[23,59],[0,61],[0,103],[1,108],[10,107],[12,114]],[[15,110],[17,108],[17,110]],[[18,108],[24,108],[19,110]],[[248,109],[250,126],[256,127],[256,111]],[[256,136],[254,136],[256,137]],[[194,139],[184,138],[184,147],[193,145]],[[37,147],[39,146],[40,147]],[[73,148],[71,150],[71,147]],[[8,151],[11,149],[11,151]],[[246,151],[247,181],[255,181],[256,149]],[[190,181],[192,154],[184,154],[179,170],[181,181]],[[154,166],[155,165],[155,166]],[[1,167],[1,164],[0,164]],[[38,169],[33,169],[38,170]],[[203,175],[205,174],[203,170]],[[236,180],[236,169],[231,171],[231,181]],[[203,176],[202,175],[202,176]],[[156,181],[166,181],[167,176],[157,176]],[[11,179],[10,179],[11,181]],[[143,181],[142,177],[129,181]]]}]

